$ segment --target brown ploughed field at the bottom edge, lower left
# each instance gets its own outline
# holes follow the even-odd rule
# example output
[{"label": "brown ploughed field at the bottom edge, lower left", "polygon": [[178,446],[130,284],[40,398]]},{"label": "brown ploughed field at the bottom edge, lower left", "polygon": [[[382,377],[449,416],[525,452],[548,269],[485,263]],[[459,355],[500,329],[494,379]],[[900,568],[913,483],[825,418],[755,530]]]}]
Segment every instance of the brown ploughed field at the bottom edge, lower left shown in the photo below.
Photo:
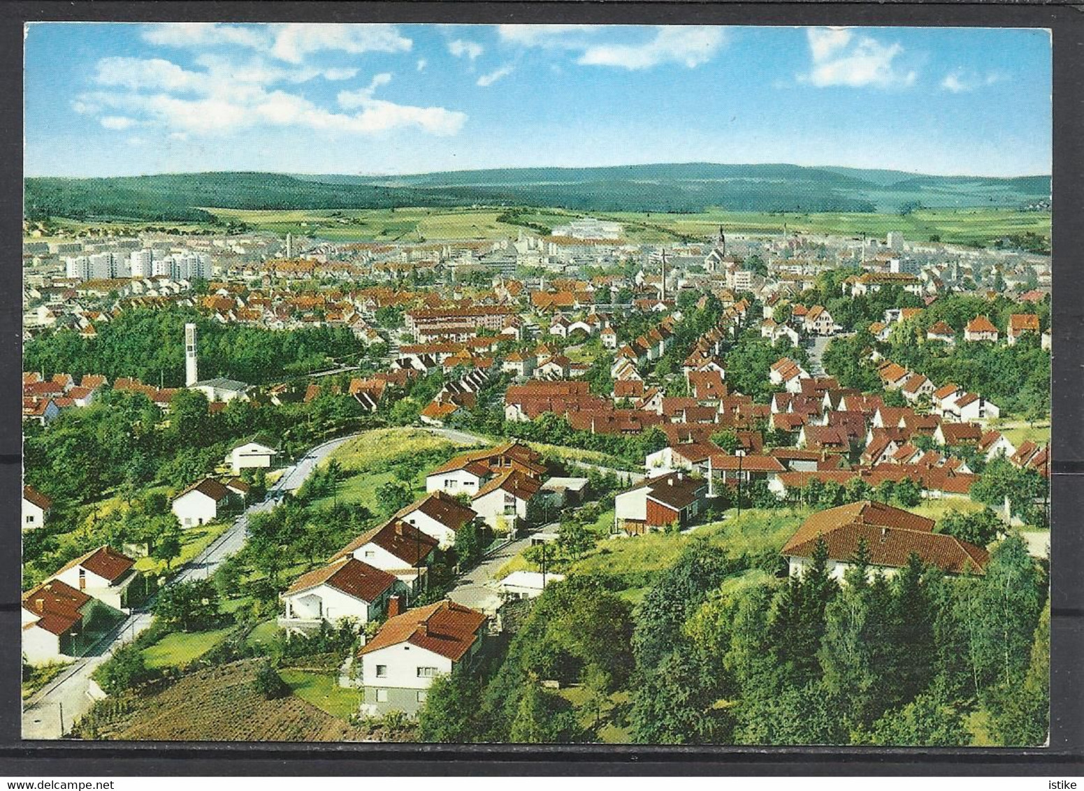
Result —
[{"label": "brown ploughed field at the bottom edge, lower left", "polygon": [[191,741],[353,741],[343,719],[291,695],[266,700],[253,690],[258,662],[190,673],[147,696],[127,693],[126,712],[99,725],[102,738]]}]

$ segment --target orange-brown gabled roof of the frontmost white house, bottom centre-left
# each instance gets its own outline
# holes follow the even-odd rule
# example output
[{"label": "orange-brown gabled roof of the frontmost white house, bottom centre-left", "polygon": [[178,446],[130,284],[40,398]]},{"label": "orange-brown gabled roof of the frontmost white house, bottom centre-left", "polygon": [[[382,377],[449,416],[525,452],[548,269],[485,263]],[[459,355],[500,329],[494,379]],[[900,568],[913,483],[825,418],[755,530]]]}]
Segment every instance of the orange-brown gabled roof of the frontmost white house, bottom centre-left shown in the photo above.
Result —
[{"label": "orange-brown gabled roof of the frontmost white house, bottom centre-left", "polygon": [[389,618],[358,656],[410,643],[457,662],[478,639],[478,631],[485,623],[486,615],[478,610],[447,599],[437,601]]}]

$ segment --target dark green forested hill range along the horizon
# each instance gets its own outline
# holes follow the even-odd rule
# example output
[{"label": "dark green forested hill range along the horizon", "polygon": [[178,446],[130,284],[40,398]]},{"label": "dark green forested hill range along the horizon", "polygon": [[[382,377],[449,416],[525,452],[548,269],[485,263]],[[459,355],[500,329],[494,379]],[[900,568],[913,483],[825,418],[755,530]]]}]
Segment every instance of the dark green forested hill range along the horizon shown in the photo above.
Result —
[{"label": "dark green forested hill range along the horizon", "polygon": [[29,178],[29,218],[210,221],[201,207],[361,209],[553,206],[582,211],[898,211],[1009,207],[1050,195],[1048,176],[997,179],[892,170],[715,165],[499,168],[413,176],[209,172],[113,179]]}]

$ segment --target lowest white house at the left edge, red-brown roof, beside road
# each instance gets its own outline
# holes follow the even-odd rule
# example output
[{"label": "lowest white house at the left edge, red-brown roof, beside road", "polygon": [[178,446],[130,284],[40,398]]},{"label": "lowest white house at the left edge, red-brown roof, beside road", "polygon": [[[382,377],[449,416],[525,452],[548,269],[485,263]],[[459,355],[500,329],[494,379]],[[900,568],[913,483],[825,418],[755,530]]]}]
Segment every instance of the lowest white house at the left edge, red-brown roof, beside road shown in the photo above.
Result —
[{"label": "lowest white house at the left edge, red-brown roof, beside road", "polygon": [[59,580],[23,594],[23,657],[30,664],[63,662],[86,648],[83,633],[100,605],[94,597]]}]

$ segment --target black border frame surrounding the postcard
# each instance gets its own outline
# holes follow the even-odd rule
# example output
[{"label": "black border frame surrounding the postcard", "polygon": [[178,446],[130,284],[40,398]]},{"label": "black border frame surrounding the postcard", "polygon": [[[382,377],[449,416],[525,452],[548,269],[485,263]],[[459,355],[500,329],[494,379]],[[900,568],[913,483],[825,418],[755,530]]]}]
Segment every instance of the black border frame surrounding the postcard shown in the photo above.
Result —
[{"label": "black border frame surrounding the postcard", "polygon": [[[0,770],[8,775],[1049,775],[1084,766],[1084,281],[1069,271],[1084,246],[1084,14],[1062,3],[972,2],[33,2],[0,4],[0,229],[22,237],[23,25],[79,22],[455,22],[727,25],[1045,27],[1053,35],[1054,274],[1051,411],[1051,742],[1045,749],[682,748],[651,745],[284,744],[279,742],[22,741],[16,673],[0,674]],[[1007,108],[1006,112],[1011,112]],[[12,249],[9,247],[8,249]],[[11,256],[14,258],[14,256]],[[22,426],[15,415],[22,368],[22,272],[0,267],[0,503],[14,513],[21,487]],[[17,666],[20,531],[0,532],[0,667]]]}]

